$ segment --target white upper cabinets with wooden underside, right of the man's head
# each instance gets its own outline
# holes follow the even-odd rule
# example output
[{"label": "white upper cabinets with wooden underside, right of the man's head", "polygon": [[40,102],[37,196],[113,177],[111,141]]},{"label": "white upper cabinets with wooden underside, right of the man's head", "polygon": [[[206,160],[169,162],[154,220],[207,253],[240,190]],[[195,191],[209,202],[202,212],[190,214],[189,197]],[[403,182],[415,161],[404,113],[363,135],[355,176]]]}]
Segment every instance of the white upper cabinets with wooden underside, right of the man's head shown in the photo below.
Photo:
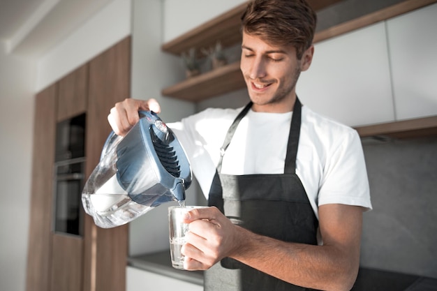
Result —
[{"label": "white upper cabinets with wooden underside, right of the man's head", "polygon": [[[435,133],[437,39],[429,36],[437,27],[436,13],[434,4],[316,43],[313,64],[297,84],[302,102],[360,126],[366,135],[391,135],[395,128],[408,132],[394,134],[399,137]],[[406,119],[411,120],[394,124]]]}]

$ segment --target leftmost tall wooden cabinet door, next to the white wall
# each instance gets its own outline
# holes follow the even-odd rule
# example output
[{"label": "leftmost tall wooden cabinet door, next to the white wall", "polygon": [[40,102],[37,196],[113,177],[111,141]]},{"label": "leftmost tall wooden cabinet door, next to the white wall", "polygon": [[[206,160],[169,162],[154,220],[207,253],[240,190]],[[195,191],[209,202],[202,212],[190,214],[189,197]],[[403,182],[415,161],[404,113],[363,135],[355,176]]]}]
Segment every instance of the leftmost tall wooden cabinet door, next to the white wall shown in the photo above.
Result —
[{"label": "leftmost tall wooden cabinet door, next to the white wall", "polygon": [[57,84],[35,98],[27,290],[50,290],[52,185]]}]

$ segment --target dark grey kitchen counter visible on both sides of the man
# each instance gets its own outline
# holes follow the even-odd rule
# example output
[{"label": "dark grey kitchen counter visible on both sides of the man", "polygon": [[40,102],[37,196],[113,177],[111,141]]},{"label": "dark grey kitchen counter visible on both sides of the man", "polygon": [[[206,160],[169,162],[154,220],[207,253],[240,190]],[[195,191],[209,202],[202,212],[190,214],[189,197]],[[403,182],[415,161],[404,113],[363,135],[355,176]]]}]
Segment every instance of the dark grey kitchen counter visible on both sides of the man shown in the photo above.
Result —
[{"label": "dark grey kitchen counter visible on both sides of the man", "polygon": [[[128,258],[128,265],[178,280],[203,285],[202,271],[174,269],[170,251]],[[351,291],[437,291],[437,278],[427,278],[392,271],[360,268]]]}]

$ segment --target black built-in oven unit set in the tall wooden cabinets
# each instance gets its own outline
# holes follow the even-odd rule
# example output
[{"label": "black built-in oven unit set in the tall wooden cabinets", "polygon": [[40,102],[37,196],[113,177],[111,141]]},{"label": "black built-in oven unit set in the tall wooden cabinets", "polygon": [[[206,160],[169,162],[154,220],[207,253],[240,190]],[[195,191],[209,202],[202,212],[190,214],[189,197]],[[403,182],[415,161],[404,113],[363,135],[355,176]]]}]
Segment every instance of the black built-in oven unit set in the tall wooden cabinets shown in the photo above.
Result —
[{"label": "black built-in oven unit set in the tall wooden cabinets", "polygon": [[85,114],[57,124],[52,230],[82,236]]}]

